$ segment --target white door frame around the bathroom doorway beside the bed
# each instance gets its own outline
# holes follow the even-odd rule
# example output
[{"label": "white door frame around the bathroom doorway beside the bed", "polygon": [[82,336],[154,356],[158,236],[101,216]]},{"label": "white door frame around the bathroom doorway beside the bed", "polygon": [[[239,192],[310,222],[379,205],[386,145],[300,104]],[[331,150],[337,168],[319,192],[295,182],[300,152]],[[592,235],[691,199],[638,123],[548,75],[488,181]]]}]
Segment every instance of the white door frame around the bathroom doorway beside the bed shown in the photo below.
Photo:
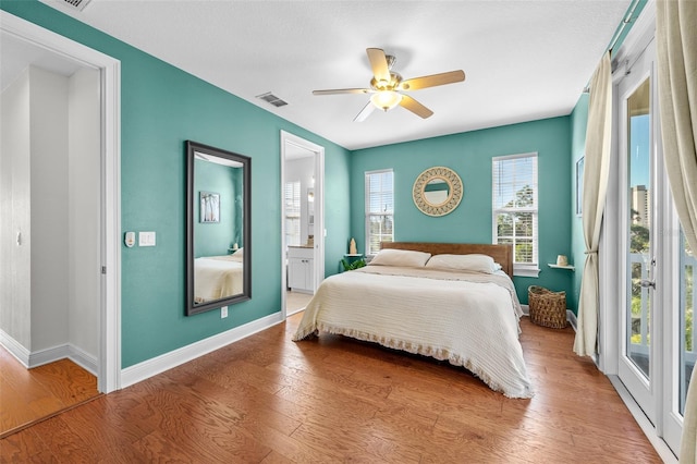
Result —
[{"label": "white door frame around the bathroom doorway beside the bed", "polygon": [[315,154],[315,259],[313,292],[325,280],[325,147],[309,142],[290,132],[281,131],[281,317],[286,318],[285,289],[288,289],[285,256],[285,210],[283,195],[285,186],[286,146],[293,145]]}]

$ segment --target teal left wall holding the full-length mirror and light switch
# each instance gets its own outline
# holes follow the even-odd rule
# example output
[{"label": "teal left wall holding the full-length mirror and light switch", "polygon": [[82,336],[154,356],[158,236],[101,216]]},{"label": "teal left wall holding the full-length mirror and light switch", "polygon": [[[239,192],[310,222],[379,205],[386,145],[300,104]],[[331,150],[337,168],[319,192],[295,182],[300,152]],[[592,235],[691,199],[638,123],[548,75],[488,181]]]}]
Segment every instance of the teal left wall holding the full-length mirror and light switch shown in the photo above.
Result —
[{"label": "teal left wall holding the full-length mirror and light switch", "polygon": [[[325,147],[326,267],[335,272],[350,233],[347,150],[38,1],[0,8],[121,60],[122,231],[157,233],[155,247],[122,248],[122,367],[280,310],[281,130]],[[253,298],[227,319],[184,316],[187,139],[252,158]]]}]

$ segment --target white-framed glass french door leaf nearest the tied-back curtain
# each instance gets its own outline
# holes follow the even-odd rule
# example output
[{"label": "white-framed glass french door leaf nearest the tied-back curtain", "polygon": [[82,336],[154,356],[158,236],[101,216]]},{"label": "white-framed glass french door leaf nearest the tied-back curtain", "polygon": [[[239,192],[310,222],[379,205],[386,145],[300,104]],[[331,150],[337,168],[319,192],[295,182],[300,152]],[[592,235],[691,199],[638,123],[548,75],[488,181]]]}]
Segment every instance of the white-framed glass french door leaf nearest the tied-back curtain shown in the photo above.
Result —
[{"label": "white-framed glass french door leaf nearest the tied-back curtain", "polygon": [[658,374],[653,318],[660,290],[661,261],[656,225],[657,205],[655,114],[651,51],[647,49],[619,85],[620,94],[620,244],[624,291],[621,308],[620,379],[646,416],[656,423]]}]

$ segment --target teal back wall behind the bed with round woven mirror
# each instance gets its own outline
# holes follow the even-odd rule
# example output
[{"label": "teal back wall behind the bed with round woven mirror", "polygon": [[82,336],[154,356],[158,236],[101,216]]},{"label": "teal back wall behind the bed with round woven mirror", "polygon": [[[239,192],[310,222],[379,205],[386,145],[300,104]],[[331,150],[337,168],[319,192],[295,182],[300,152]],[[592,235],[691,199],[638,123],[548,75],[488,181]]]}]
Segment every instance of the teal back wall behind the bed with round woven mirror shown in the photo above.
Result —
[{"label": "teal back wall behind the bed with round woven mirror", "polygon": [[[394,240],[401,242],[491,243],[491,158],[537,151],[539,182],[539,278],[516,277],[522,303],[527,288],[572,291],[572,273],[552,269],[557,255],[571,254],[570,118],[553,118],[354,151],[351,163],[351,233],[365,248],[364,173],[394,170]],[[416,178],[433,166],[453,169],[464,197],[453,212],[433,218],[412,199]]]}]

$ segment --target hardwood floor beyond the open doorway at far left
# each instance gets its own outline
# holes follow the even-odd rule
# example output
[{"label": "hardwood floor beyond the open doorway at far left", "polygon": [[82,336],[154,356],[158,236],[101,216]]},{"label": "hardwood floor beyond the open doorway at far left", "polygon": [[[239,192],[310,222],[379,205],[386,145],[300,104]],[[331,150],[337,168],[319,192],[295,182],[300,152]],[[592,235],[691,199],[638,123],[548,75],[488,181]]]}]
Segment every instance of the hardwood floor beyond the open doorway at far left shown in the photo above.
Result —
[{"label": "hardwood floor beyond the open doorway at far left", "polygon": [[97,395],[97,378],[72,361],[27,369],[0,346],[0,438]]}]

